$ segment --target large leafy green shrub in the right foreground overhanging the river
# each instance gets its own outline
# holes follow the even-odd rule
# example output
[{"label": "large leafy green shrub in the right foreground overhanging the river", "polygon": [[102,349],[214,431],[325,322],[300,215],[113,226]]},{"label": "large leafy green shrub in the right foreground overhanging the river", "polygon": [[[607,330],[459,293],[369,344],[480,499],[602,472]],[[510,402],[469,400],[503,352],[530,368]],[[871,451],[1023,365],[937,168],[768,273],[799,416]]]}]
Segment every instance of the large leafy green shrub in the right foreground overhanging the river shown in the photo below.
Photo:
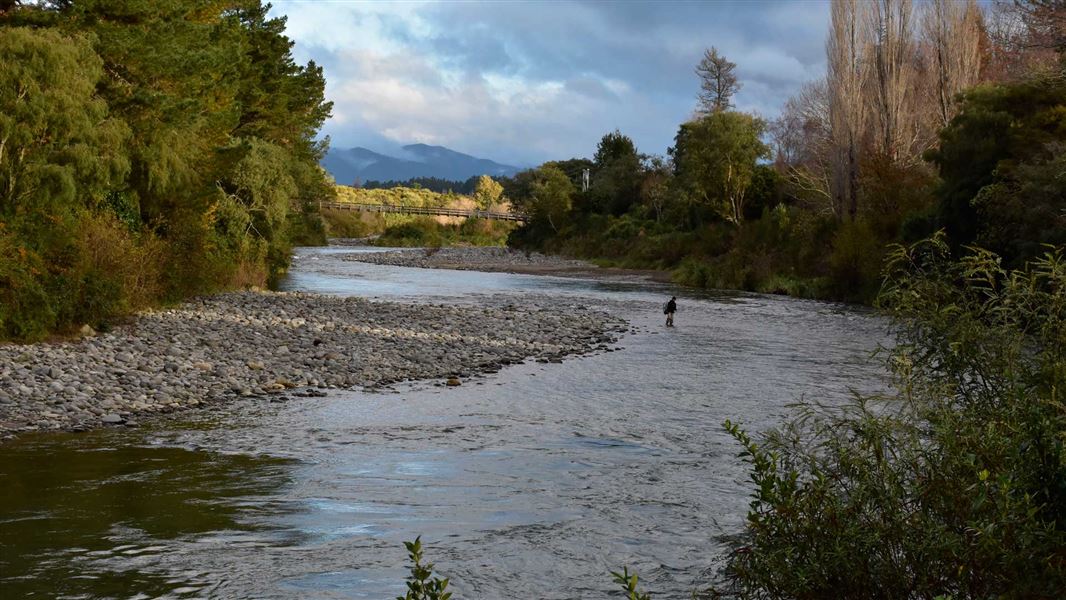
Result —
[{"label": "large leafy green shrub in the right foreground overhanging the river", "polygon": [[1066,589],[1066,258],[1024,270],[942,236],[894,247],[899,392],[727,429],[754,499],[724,591],[1053,598]]}]

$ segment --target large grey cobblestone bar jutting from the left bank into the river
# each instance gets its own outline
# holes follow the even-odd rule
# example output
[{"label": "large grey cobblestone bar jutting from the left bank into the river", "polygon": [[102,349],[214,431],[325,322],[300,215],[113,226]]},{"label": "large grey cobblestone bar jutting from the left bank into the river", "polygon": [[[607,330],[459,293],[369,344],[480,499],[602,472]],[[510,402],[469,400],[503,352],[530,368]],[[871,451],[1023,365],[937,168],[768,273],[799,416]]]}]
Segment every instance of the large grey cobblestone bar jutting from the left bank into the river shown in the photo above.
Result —
[{"label": "large grey cobblestone bar jutting from the left bank into the river", "polygon": [[236,396],[451,379],[605,347],[620,320],[555,301],[410,305],[221,294],[108,334],[0,345],[0,438],[131,424]]}]

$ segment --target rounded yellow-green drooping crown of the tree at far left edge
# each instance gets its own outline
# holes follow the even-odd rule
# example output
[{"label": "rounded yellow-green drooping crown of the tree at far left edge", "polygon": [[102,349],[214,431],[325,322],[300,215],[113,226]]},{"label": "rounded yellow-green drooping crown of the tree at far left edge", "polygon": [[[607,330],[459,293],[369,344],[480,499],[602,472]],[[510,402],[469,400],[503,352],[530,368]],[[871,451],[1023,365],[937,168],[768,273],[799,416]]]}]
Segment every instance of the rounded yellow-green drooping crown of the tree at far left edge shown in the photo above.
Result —
[{"label": "rounded yellow-green drooping crown of the tree at far left edge", "polygon": [[127,129],[95,94],[101,77],[84,38],[0,30],[0,215],[55,218],[120,184]]}]

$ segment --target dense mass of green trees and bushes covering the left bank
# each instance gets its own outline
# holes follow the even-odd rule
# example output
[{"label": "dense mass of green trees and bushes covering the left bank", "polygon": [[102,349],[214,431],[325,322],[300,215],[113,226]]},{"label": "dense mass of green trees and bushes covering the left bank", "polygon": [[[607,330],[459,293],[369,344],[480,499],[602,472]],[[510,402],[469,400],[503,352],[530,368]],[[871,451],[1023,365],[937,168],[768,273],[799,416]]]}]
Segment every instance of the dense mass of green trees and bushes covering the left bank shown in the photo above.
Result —
[{"label": "dense mass of green trees and bushes covering the left bank", "polygon": [[0,2],[0,339],[263,286],[323,237],[322,69],[258,0]]}]

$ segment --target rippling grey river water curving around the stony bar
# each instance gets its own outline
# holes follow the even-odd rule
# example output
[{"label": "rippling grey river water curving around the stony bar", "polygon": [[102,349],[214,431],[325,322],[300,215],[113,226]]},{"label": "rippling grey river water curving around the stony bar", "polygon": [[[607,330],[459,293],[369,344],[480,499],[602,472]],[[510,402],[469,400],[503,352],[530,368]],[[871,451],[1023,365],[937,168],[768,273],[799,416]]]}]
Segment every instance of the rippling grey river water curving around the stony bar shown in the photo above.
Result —
[{"label": "rippling grey river water curving around the stony bar", "polygon": [[[392,598],[421,535],[456,598],[687,598],[749,500],[726,419],[884,388],[885,324],[841,305],[633,279],[433,271],[301,248],[286,289],[563,297],[613,352],[469,379],[242,401],[0,445],[0,598]],[[679,296],[677,327],[661,307]]]}]

